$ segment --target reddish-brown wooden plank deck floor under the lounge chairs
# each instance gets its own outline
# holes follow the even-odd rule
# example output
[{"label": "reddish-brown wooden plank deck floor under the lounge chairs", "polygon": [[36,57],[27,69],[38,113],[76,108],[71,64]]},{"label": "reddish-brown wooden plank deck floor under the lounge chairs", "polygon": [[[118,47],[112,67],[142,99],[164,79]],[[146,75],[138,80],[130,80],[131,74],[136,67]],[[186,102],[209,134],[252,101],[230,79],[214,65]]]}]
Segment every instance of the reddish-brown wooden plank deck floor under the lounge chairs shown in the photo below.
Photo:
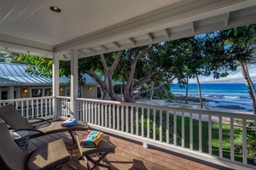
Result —
[{"label": "reddish-brown wooden plank deck floor under the lounge chairs", "polygon": [[[85,132],[85,133],[89,133]],[[77,132],[78,134],[84,132]],[[189,156],[182,156],[170,151],[164,151],[154,148],[143,148],[142,144],[137,144],[126,139],[119,139],[112,135],[106,134],[107,138],[116,146],[114,154],[108,154],[107,164],[111,169],[120,170],[165,170],[165,169],[227,169],[219,167],[205,161],[199,161]],[[29,150],[36,150],[38,147],[54,141],[55,139],[64,139],[67,150],[72,155],[72,161],[68,161],[61,169],[86,169],[84,160],[79,160],[79,150],[73,144],[69,133],[55,133],[30,139]],[[106,167],[96,167],[96,169],[108,169]]]}]

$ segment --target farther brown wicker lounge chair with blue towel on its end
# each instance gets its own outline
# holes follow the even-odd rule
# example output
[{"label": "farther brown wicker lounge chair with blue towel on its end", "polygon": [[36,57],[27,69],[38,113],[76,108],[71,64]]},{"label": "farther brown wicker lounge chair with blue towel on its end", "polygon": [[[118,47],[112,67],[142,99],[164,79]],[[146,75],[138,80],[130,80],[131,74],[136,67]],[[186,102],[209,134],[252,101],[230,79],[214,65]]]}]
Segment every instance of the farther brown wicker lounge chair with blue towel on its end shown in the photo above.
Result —
[{"label": "farther brown wicker lounge chair with blue towel on its end", "polygon": [[[6,122],[9,127],[15,131],[27,130],[32,131],[29,138],[36,138],[50,133],[60,133],[68,131],[73,141],[75,142],[75,131],[87,131],[88,126],[86,122],[78,121],[77,125],[72,127],[61,127],[63,120],[59,121],[48,121],[42,118],[31,118],[25,119],[20,115],[19,111],[16,110],[12,104],[3,105],[0,107],[0,116],[3,121]],[[38,120],[39,123],[30,123],[29,120]],[[46,122],[46,123],[45,123]]]}]

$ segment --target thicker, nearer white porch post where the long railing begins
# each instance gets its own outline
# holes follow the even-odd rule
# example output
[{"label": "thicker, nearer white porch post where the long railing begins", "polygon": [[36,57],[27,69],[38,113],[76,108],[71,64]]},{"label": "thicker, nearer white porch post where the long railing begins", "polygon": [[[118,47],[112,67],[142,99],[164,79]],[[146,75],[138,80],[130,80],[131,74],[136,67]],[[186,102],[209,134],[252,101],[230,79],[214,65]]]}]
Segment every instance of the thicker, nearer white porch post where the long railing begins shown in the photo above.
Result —
[{"label": "thicker, nearer white porch post where the long railing begins", "polygon": [[79,60],[78,50],[71,51],[71,80],[70,80],[71,114],[79,119],[79,105],[75,98],[79,97]]}]

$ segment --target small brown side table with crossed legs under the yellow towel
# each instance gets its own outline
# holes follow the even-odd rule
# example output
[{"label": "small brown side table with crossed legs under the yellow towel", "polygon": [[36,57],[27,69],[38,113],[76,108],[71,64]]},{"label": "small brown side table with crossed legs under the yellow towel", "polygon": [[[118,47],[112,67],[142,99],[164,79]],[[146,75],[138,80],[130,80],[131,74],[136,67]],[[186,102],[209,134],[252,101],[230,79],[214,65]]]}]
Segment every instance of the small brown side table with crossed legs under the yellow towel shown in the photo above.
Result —
[{"label": "small brown side table with crossed legs under the yellow towel", "polygon": [[[79,148],[79,152],[80,152],[80,157],[84,157],[84,161],[87,164],[87,166],[89,166],[89,164],[87,163],[88,161],[91,161],[94,165],[93,167],[88,167],[88,169],[92,170],[95,169],[96,166],[101,166],[101,167],[110,167],[106,164],[101,163],[101,161],[103,161],[103,159],[108,155],[108,153],[114,153],[115,151],[115,146],[113,144],[108,143],[108,141],[106,141],[103,137],[102,141],[95,147],[95,148],[84,148],[83,146],[80,145],[80,141],[84,139],[84,135],[79,135],[77,136],[77,145]],[[97,155],[97,159],[93,159],[92,154],[96,154]]]}]

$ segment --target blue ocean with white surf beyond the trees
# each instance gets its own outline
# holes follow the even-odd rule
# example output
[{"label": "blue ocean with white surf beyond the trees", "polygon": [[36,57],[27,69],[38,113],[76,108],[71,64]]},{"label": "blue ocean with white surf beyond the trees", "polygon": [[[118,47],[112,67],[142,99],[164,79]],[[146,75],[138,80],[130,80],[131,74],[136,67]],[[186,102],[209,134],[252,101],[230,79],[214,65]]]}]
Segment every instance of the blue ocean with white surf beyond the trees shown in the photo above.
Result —
[{"label": "blue ocean with white surf beyond the trees", "polygon": [[[185,95],[186,89],[177,84],[171,87],[173,94]],[[196,83],[189,84],[189,95],[199,97]],[[238,111],[252,111],[252,104],[245,83],[201,83],[202,98],[209,101],[203,105],[209,106],[237,106]]]}]

